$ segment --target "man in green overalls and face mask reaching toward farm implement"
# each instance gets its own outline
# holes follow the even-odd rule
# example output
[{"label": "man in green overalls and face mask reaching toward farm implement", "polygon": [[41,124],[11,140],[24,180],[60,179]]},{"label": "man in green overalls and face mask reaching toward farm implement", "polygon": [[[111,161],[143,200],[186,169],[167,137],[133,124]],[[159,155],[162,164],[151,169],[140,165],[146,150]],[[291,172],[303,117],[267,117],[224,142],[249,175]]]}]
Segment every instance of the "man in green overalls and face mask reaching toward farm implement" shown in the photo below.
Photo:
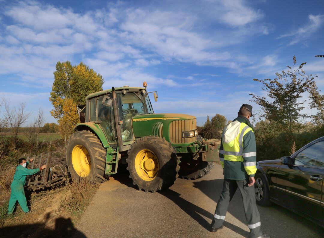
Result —
[{"label": "man in green overalls and face mask reaching toward farm implement", "polygon": [[[30,162],[32,161],[33,159],[30,159]],[[24,191],[27,175],[36,174],[40,170],[46,168],[46,165],[43,165],[41,166],[41,168],[28,169],[27,166],[29,162],[27,162],[25,158],[20,158],[18,160],[18,163],[19,165],[16,168],[14,180],[12,181],[10,186],[11,194],[8,205],[8,215],[12,214],[12,212],[14,211],[17,201],[19,202],[20,207],[24,212],[29,212]]]}]

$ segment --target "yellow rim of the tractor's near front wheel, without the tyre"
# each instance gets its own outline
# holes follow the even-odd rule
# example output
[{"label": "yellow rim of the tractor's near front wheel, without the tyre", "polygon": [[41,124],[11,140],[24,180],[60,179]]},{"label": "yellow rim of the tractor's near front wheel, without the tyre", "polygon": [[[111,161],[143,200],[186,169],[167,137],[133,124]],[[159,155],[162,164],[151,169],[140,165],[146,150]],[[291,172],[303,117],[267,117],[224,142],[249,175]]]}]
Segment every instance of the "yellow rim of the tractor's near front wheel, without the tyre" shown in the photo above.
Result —
[{"label": "yellow rim of the tractor's near front wheel, without the tyre", "polygon": [[159,170],[159,161],[150,150],[141,150],[135,157],[135,169],[138,176],[145,180],[153,180]]}]

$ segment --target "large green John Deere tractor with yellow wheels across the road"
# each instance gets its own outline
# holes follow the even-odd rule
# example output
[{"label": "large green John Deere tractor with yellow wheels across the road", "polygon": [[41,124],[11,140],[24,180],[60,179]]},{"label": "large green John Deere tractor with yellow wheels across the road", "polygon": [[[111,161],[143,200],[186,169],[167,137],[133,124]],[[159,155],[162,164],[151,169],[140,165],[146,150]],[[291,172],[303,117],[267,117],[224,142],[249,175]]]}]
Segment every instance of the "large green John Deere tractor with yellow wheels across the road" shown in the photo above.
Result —
[{"label": "large green John Deere tractor with yellow wheels across the road", "polygon": [[[155,114],[149,98],[157,92],[124,86],[89,94],[79,107],[83,122],[66,146],[66,160],[74,181],[95,182],[127,164],[134,185],[145,192],[170,187],[178,174],[198,179],[219,161],[219,140],[198,136],[196,118],[185,114]],[[80,117],[81,118],[81,117]],[[82,120],[81,120],[82,121]]]}]

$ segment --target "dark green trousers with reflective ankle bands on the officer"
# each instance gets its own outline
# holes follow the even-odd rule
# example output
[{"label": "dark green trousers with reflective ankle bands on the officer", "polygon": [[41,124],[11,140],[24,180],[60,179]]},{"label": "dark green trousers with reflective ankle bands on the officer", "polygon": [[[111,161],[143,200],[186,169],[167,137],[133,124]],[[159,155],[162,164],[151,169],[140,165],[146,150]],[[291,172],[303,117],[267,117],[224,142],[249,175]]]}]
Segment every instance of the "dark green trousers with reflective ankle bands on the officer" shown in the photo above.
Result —
[{"label": "dark green trousers with reflective ankle bands on the officer", "polygon": [[255,203],[254,186],[248,186],[249,179],[246,180],[231,180],[224,179],[223,191],[218,200],[212,227],[220,227],[225,219],[229,202],[232,200],[237,188],[240,190],[243,200],[243,207],[246,221],[250,229],[250,237],[255,238],[262,235],[260,214]]}]

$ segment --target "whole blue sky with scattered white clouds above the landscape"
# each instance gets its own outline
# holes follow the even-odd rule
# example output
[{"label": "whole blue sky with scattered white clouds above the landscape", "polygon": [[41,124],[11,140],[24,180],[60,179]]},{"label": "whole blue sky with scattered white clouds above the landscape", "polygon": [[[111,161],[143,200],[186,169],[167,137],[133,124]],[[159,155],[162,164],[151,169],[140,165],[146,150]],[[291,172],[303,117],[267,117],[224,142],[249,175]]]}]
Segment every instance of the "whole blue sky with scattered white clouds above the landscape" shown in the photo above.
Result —
[{"label": "whole blue sky with scattered white clouds above the landscape", "polygon": [[55,64],[83,61],[104,89],[147,81],[156,113],[233,119],[293,55],[324,89],[323,23],[323,1],[0,0],[0,97],[55,122]]}]

